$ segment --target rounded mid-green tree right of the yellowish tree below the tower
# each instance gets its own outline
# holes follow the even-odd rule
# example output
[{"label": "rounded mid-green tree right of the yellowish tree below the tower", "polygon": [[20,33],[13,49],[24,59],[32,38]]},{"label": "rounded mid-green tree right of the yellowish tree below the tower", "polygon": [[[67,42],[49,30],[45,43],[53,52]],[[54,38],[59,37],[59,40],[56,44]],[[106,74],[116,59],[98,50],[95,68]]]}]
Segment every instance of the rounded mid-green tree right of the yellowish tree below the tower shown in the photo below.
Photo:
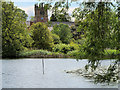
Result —
[{"label": "rounded mid-green tree right of the yellowish tree below the tower", "polygon": [[55,33],[60,37],[60,40],[62,43],[70,43],[70,39],[72,38],[71,30],[68,25],[66,24],[59,24],[59,25],[54,25],[52,33]]}]

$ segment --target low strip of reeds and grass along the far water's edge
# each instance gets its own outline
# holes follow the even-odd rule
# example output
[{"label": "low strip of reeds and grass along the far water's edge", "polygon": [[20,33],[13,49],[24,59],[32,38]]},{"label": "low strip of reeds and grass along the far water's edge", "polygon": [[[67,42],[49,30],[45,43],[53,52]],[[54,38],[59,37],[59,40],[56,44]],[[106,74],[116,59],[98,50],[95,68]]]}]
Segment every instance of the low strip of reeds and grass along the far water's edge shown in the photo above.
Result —
[{"label": "low strip of reeds and grass along the far water's edge", "polygon": [[[105,50],[103,59],[116,59],[120,54],[118,50],[107,49]],[[20,52],[20,58],[83,58],[86,59],[85,53],[80,53],[78,50],[70,51],[67,54],[60,52],[51,52],[47,50],[27,50]]]}]

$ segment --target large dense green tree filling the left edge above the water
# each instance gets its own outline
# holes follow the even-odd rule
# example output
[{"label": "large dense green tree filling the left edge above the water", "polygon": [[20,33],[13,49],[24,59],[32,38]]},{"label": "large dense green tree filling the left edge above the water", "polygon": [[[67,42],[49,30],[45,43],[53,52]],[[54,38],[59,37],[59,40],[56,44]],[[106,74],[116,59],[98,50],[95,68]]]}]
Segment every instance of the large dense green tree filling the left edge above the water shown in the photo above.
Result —
[{"label": "large dense green tree filling the left edge above the water", "polygon": [[14,6],[14,3],[2,2],[2,56],[16,57],[33,42],[26,28],[27,14]]}]

